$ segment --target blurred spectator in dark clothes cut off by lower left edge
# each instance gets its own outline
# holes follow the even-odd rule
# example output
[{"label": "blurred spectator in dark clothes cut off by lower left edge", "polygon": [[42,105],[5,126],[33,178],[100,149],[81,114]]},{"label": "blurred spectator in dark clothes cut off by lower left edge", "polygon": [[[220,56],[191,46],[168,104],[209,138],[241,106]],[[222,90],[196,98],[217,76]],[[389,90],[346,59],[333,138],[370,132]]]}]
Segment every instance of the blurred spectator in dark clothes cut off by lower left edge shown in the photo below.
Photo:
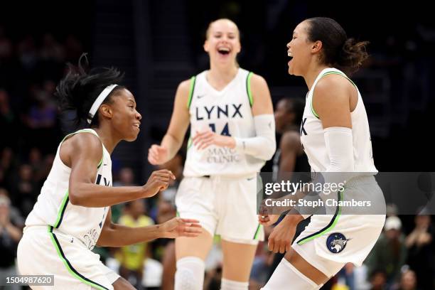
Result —
[{"label": "blurred spectator in dark clothes cut off by lower left edge", "polygon": [[[16,275],[16,247],[23,235],[23,218],[11,210],[11,201],[6,190],[0,188],[0,281],[6,276]],[[11,286],[9,289],[19,289]]]}]

